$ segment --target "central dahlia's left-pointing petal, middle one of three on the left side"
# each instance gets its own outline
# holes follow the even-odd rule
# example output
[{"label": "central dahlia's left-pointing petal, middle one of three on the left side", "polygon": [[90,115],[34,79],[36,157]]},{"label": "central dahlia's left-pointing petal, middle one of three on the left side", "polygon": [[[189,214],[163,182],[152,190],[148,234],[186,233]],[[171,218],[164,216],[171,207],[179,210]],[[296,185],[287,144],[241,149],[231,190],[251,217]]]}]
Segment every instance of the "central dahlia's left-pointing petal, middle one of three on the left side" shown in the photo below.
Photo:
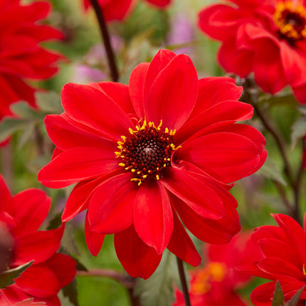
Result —
[{"label": "central dahlia's left-pointing petal, middle one of three on the left side", "polygon": [[103,147],[110,146],[116,149],[115,142],[102,138],[80,128],[65,120],[60,115],[47,115],[45,125],[53,144],[59,149],[67,150],[72,147]]}]

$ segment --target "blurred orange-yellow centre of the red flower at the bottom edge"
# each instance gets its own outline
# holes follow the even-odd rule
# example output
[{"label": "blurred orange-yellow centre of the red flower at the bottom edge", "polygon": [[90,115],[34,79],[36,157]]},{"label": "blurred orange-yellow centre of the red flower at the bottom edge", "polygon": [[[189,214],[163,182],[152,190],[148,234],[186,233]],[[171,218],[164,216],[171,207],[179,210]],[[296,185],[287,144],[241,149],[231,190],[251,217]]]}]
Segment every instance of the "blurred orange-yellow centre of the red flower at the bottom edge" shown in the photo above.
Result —
[{"label": "blurred orange-yellow centre of the red flower at the bottom edge", "polygon": [[220,283],[226,276],[226,265],[223,263],[209,263],[201,269],[191,283],[191,293],[203,295],[211,290],[213,282]]}]

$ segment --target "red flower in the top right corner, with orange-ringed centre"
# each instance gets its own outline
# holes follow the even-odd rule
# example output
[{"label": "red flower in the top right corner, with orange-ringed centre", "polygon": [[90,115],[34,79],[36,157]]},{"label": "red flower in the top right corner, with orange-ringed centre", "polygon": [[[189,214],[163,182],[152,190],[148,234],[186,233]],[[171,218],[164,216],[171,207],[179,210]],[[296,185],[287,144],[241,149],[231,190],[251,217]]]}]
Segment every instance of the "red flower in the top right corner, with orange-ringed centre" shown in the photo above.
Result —
[{"label": "red flower in the top right corner, with orange-ringed centre", "polygon": [[267,93],[286,85],[306,103],[306,1],[228,0],[199,13],[199,28],[222,42],[226,71],[255,81]]}]

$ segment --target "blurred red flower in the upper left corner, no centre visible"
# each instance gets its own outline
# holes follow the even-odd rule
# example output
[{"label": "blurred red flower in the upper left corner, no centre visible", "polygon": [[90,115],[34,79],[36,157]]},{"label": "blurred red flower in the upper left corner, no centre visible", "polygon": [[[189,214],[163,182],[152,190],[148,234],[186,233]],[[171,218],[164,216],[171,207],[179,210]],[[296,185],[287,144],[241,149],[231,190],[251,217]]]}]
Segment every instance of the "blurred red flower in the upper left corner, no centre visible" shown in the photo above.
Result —
[{"label": "blurred red flower in the upper left corner, no centre visible", "polygon": [[21,5],[19,0],[0,1],[0,120],[12,115],[11,103],[23,100],[35,107],[35,88],[27,80],[45,80],[58,71],[60,54],[40,43],[62,39],[60,31],[39,24],[46,19],[51,5],[36,1]]}]

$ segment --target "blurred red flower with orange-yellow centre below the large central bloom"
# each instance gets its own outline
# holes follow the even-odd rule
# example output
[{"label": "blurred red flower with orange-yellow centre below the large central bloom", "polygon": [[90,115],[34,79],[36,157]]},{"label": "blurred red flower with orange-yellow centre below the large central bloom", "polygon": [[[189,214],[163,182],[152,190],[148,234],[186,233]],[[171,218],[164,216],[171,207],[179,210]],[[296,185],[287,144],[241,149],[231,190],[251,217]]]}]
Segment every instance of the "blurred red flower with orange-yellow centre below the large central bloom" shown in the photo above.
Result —
[{"label": "blurred red flower with orange-yellow centre below the large central bloom", "polygon": [[[259,256],[249,233],[238,233],[231,242],[209,245],[204,248],[206,262],[203,268],[191,271],[189,296],[193,306],[248,306],[249,303],[236,293],[246,287],[250,275],[233,270]],[[184,306],[184,295],[176,290],[172,306]]]}]

